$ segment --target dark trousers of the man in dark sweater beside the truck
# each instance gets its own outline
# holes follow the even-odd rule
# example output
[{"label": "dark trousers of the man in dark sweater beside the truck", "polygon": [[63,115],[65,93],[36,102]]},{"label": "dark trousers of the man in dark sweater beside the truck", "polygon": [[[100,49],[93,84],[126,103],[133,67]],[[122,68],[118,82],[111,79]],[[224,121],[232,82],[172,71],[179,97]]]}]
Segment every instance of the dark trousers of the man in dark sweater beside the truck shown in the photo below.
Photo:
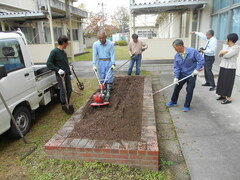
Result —
[{"label": "dark trousers of the man in dark sweater beside the truck", "polygon": [[[58,87],[60,89],[60,101],[61,104],[66,104],[66,100],[65,100],[65,92],[63,89],[63,82],[62,82],[62,78],[59,77],[59,75],[56,75],[56,79],[58,82]],[[66,86],[66,90],[67,90],[67,99],[68,99],[68,103],[71,97],[71,93],[72,93],[72,83],[71,83],[71,79],[69,75],[65,75],[64,78],[65,81],[65,86]]]}]

